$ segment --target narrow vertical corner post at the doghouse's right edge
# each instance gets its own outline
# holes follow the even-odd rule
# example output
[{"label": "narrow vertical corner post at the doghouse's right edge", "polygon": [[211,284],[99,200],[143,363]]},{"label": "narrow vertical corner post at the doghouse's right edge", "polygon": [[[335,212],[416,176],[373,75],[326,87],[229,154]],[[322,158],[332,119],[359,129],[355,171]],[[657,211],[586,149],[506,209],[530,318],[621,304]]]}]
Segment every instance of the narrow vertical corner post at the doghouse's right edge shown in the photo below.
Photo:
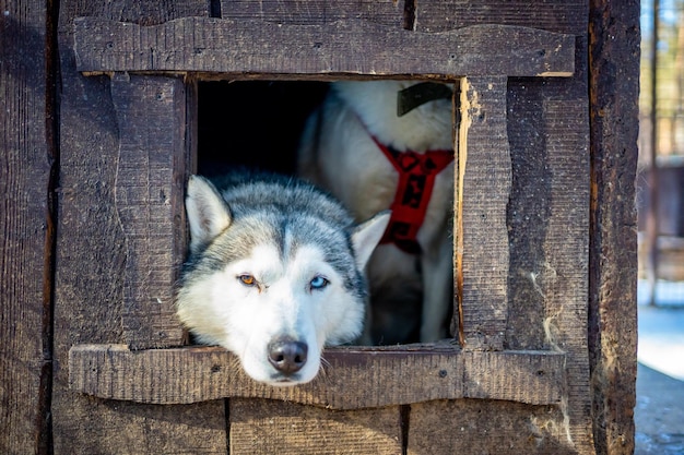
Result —
[{"label": "narrow vertical corner post at the doghouse's right edge", "polygon": [[634,451],[639,2],[590,2],[589,345],[598,454]]}]

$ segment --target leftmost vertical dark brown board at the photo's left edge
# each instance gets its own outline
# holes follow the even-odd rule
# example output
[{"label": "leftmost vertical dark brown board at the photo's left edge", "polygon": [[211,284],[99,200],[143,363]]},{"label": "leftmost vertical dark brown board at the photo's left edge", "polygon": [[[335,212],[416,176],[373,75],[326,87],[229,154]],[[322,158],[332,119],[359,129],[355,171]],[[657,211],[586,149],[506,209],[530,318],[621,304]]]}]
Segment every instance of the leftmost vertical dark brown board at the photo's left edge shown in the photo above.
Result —
[{"label": "leftmost vertical dark brown board at the photo's left edge", "polygon": [[0,19],[0,453],[47,453],[55,151],[45,2]]}]

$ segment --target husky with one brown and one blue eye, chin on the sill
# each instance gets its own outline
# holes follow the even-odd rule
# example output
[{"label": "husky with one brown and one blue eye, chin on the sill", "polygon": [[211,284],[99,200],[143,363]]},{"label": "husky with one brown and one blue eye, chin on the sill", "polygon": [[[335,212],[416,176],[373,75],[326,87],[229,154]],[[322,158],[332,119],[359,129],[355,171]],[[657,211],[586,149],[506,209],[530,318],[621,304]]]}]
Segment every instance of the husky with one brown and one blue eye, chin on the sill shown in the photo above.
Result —
[{"label": "husky with one brown and one blue eye, chin on the sill", "polygon": [[203,344],[221,345],[271,385],[312,380],[325,345],[363,328],[362,273],[389,213],[354,225],[331,196],[279,176],[219,183],[190,177],[190,251],[177,313]]}]

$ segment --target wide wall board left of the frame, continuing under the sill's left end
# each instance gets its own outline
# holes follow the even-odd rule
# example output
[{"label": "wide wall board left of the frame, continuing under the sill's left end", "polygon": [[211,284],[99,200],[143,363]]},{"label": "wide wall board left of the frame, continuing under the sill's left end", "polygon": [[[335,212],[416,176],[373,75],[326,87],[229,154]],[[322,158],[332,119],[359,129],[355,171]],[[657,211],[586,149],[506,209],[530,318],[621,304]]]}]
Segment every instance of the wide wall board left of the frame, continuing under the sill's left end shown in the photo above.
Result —
[{"label": "wide wall board left of the frame, continuing under the sill's left end", "polygon": [[[172,3],[164,2],[167,7]],[[61,191],[52,452],[225,454],[224,400],[149,406],[96,399],[69,390],[71,346],[83,342],[126,343],[121,325],[126,236],[115,193],[120,151],[118,121],[110,79],[84,77],[75,70],[72,35],[74,16],[95,14],[118,20],[121,5],[118,1],[60,3]],[[165,11],[173,14],[175,10],[169,7]],[[156,17],[161,19],[168,17]]]}]

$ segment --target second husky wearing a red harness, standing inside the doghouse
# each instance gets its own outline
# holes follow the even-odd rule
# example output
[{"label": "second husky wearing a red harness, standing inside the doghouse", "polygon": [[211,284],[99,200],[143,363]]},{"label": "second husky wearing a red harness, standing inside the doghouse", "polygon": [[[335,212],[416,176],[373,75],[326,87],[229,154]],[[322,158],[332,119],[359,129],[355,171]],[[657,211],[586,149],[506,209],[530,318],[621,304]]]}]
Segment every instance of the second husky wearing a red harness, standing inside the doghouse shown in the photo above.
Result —
[{"label": "second husky wearing a red harness, standing inside the doghouse", "polygon": [[[412,91],[428,101],[398,112],[398,94]],[[373,344],[447,336],[453,300],[452,92],[415,81],[335,82],[300,140],[299,175],[340,199],[356,219],[392,209],[368,264]]]}]

